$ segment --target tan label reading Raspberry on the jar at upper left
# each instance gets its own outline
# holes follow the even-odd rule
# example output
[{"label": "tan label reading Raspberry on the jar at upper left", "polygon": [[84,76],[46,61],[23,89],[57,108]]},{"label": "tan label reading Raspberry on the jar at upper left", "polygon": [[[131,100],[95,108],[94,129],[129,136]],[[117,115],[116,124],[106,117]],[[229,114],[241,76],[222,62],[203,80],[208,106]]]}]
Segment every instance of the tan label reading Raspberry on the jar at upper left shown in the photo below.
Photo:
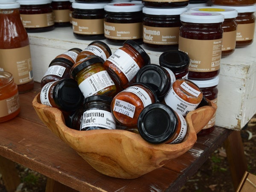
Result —
[{"label": "tan label reading Raspberry on the jar at upper left", "polygon": [[40,28],[54,25],[52,12],[32,15],[20,14],[20,17],[25,28]]}]

